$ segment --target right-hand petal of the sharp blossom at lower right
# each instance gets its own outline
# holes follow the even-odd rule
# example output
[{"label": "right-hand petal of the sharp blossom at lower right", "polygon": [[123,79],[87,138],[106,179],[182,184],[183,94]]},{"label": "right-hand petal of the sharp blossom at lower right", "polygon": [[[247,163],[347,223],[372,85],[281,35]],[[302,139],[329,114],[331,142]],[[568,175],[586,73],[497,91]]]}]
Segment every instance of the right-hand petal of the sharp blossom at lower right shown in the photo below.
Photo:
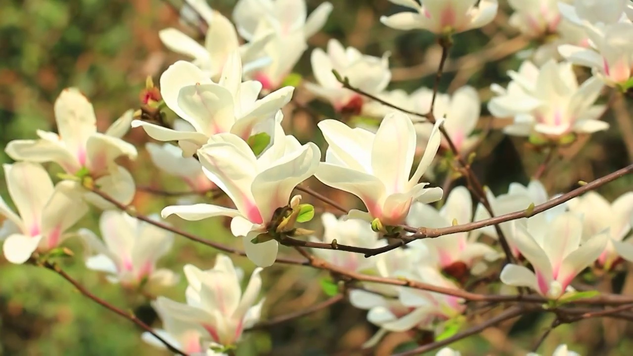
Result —
[{"label": "right-hand petal of the sharp blossom at lower right", "polygon": [[561,263],[558,277],[563,290],[572,282],[573,277],[579,274],[587,266],[596,262],[598,257],[605,251],[609,236],[606,232],[598,234],[580,245],[577,250],[572,251]]}]

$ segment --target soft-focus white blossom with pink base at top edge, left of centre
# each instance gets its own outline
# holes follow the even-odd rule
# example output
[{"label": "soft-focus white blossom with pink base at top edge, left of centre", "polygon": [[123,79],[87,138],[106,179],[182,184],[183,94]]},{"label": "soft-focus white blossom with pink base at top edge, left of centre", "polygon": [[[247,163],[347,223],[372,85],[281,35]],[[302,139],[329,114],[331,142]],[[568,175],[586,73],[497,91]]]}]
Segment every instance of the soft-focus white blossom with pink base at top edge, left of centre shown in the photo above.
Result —
[{"label": "soft-focus white blossom with pink base at top edge, left of centre", "polygon": [[332,4],[321,3],[307,16],[304,0],[240,0],[233,19],[237,31],[248,41],[273,34],[264,48],[271,63],[250,75],[265,91],[282,85],[308,48],[306,39],[320,30],[332,11]]}]

